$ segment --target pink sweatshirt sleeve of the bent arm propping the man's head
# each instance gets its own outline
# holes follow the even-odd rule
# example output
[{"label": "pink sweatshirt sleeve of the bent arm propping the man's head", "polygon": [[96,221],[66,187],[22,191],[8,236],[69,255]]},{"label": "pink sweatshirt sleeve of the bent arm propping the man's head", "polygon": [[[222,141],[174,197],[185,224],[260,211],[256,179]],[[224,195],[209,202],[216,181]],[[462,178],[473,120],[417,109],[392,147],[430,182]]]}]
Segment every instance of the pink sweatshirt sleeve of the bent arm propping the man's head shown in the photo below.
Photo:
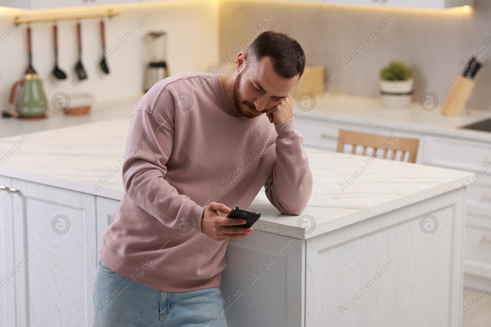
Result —
[{"label": "pink sweatshirt sleeve of the bent arm propping the man's head", "polygon": [[293,117],[274,127],[277,161],[264,184],[266,196],[281,213],[300,215],[312,193],[312,172],[301,146],[303,135],[295,128]]}]

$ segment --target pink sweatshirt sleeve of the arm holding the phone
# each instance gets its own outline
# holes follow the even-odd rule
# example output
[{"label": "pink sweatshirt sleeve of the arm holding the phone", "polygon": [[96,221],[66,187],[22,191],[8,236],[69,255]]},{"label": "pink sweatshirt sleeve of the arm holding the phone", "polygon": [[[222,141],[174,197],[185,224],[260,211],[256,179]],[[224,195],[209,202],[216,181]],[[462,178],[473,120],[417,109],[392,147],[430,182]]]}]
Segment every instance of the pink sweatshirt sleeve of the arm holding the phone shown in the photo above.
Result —
[{"label": "pink sweatshirt sleeve of the arm holding the phone", "polygon": [[152,88],[136,103],[122,169],[124,190],[165,226],[202,232],[204,207],[179,194],[164,178],[174,144],[175,107],[174,96],[165,88]]}]

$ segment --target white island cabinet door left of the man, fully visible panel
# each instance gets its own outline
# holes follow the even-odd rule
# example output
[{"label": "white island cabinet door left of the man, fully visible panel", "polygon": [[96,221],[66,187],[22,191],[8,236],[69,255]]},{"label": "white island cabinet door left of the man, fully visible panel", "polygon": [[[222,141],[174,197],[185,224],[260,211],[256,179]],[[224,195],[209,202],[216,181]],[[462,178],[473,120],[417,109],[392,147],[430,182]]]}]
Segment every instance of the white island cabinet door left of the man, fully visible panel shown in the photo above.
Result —
[{"label": "white island cabinet door left of the man, fully visible panel", "polygon": [[[18,327],[92,326],[95,196],[12,178]],[[11,299],[13,301],[14,299]]]}]

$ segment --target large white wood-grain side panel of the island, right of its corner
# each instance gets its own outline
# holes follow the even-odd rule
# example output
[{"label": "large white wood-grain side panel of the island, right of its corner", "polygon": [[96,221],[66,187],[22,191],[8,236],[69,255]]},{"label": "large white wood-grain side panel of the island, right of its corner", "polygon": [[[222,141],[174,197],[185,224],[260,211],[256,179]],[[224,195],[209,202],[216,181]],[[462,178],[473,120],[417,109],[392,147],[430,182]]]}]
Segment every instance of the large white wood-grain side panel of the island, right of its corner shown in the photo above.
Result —
[{"label": "large white wood-grain side panel of the island, right of its corner", "polygon": [[[427,214],[439,222],[432,234],[421,227]],[[460,189],[307,239],[305,327],[451,326],[463,227]]]}]

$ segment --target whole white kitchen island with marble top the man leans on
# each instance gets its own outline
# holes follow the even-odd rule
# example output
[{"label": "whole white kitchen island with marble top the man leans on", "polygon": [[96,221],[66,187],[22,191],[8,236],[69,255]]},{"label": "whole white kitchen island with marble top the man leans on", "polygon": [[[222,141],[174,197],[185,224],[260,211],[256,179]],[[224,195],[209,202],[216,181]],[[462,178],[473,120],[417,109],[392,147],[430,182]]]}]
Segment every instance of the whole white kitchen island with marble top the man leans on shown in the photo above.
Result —
[{"label": "whole white kitchen island with marble top the man leans on", "polygon": [[[128,126],[116,119],[0,139],[0,153],[12,154],[0,168],[1,326],[92,325]],[[314,186],[302,214],[280,214],[262,191],[250,205],[262,213],[255,231],[229,242],[229,326],[460,326],[471,174],[306,151]]]}]

